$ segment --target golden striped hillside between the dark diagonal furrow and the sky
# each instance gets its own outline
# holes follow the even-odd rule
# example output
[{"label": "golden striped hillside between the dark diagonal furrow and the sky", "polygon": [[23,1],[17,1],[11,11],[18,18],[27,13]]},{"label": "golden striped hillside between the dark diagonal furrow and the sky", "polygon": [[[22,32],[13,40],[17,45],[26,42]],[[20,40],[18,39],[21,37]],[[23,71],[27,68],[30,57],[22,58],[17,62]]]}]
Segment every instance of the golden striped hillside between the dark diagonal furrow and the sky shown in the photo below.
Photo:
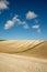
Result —
[{"label": "golden striped hillside between the dark diagonal furrow and the sky", "polygon": [[[16,45],[16,42],[19,43]],[[30,49],[33,49],[35,45],[42,43],[44,41],[31,41],[31,40],[26,40],[26,41],[13,41],[11,43],[5,44],[4,47],[0,47],[0,52],[7,52],[7,53],[20,53],[20,52],[24,52],[27,51]]]}]

